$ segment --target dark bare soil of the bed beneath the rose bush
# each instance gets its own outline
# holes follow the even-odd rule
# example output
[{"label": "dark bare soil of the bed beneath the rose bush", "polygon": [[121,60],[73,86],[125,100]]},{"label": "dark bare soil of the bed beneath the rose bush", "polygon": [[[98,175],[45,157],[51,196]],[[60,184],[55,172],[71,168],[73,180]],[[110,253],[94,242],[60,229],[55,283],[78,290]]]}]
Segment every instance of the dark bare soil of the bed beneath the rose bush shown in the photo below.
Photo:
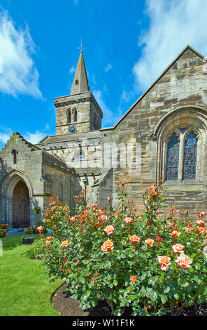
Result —
[{"label": "dark bare soil of the bed beneath the rose bush", "polygon": [[[70,297],[67,284],[63,284],[52,296],[52,304],[62,316],[111,316],[111,310],[106,301],[99,301],[96,307],[83,310],[79,308],[79,302]],[[123,316],[131,316],[132,309],[125,308]],[[201,308],[185,308],[180,316],[207,316],[207,303],[203,303]]]}]

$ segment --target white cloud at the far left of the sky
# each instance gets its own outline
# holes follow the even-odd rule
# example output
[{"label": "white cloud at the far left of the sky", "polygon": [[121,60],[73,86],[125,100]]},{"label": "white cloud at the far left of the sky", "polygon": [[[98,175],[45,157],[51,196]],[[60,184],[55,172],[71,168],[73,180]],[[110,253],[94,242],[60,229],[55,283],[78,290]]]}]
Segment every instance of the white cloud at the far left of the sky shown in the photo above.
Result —
[{"label": "white cloud at the far left of the sky", "polygon": [[8,15],[0,8],[0,92],[17,97],[19,94],[31,95],[43,99],[39,89],[39,74],[31,55],[35,45],[29,28],[18,28]]}]

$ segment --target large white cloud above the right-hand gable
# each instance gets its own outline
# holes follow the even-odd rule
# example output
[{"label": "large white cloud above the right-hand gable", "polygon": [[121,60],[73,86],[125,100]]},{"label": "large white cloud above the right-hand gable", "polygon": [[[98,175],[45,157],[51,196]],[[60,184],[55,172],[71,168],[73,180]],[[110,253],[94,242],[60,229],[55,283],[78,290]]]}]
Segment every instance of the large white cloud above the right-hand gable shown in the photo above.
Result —
[{"label": "large white cloud above the right-hand gable", "polygon": [[135,86],[146,88],[187,44],[207,55],[206,0],[148,0],[149,29],[141,35],[141,58],[134,65]]}]

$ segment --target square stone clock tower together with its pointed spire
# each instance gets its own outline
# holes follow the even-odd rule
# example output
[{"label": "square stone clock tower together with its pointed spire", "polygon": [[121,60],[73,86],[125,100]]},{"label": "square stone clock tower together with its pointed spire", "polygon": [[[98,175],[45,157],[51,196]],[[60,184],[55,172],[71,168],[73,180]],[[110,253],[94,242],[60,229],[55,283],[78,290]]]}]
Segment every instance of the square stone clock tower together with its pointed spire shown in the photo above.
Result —
[{"label": "square stone clock tower together with its pointed spire", "polygon": [[56,135],[99,130],[103,112],[90,91],[82,49],[76,73],[67,96],[55,98]]}]

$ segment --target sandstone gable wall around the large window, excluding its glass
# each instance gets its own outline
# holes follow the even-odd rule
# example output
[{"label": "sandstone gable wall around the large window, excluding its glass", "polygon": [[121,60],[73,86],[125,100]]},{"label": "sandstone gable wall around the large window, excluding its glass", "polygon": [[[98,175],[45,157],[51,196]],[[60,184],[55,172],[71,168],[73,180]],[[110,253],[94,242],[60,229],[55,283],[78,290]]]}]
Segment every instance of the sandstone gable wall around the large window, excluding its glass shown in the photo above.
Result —
[{"label": "sandstone gable wall around the large window, excluding its glass", "polygon": [[[129,199],[134,199],[139,209],[143,207],[142,192],[153,184],[168,188],[166,202],[178,209],[190,209],[190,216],[207,209],[206,188],[206,114],[207,114],[207,71],[206,60],[187,48],[176,62],[162,74],[150,89],[136,102],[114,128],[101,129],[101,144],[141,144],[141,173],[130,174],[128,168],[113,170],[113,194],[117,192],[118,181],[129,182]],[[173,126],[195,126],[202,137],[202,152],[197,154],[199,171],[197,178],[185,183],[166,182],[161,145],[162,131],[168,115],[170,133]],[[166,121],[162,119],[166,118]],[[200,124],[199,124],[200,120]],[[161,122],[161,124],[159,124]],[[200,125],[200,126],[199,126]],[[156,131],[157,129],[157,131]],[[157,138],[153,141],[152,134]],[[167,133],[163,133],[167,136]],[[151,139],[151,140],[150,140]],[[167,143],[167,140],[166,142]],[[199,165],[201,164],[201,165]]]}]

